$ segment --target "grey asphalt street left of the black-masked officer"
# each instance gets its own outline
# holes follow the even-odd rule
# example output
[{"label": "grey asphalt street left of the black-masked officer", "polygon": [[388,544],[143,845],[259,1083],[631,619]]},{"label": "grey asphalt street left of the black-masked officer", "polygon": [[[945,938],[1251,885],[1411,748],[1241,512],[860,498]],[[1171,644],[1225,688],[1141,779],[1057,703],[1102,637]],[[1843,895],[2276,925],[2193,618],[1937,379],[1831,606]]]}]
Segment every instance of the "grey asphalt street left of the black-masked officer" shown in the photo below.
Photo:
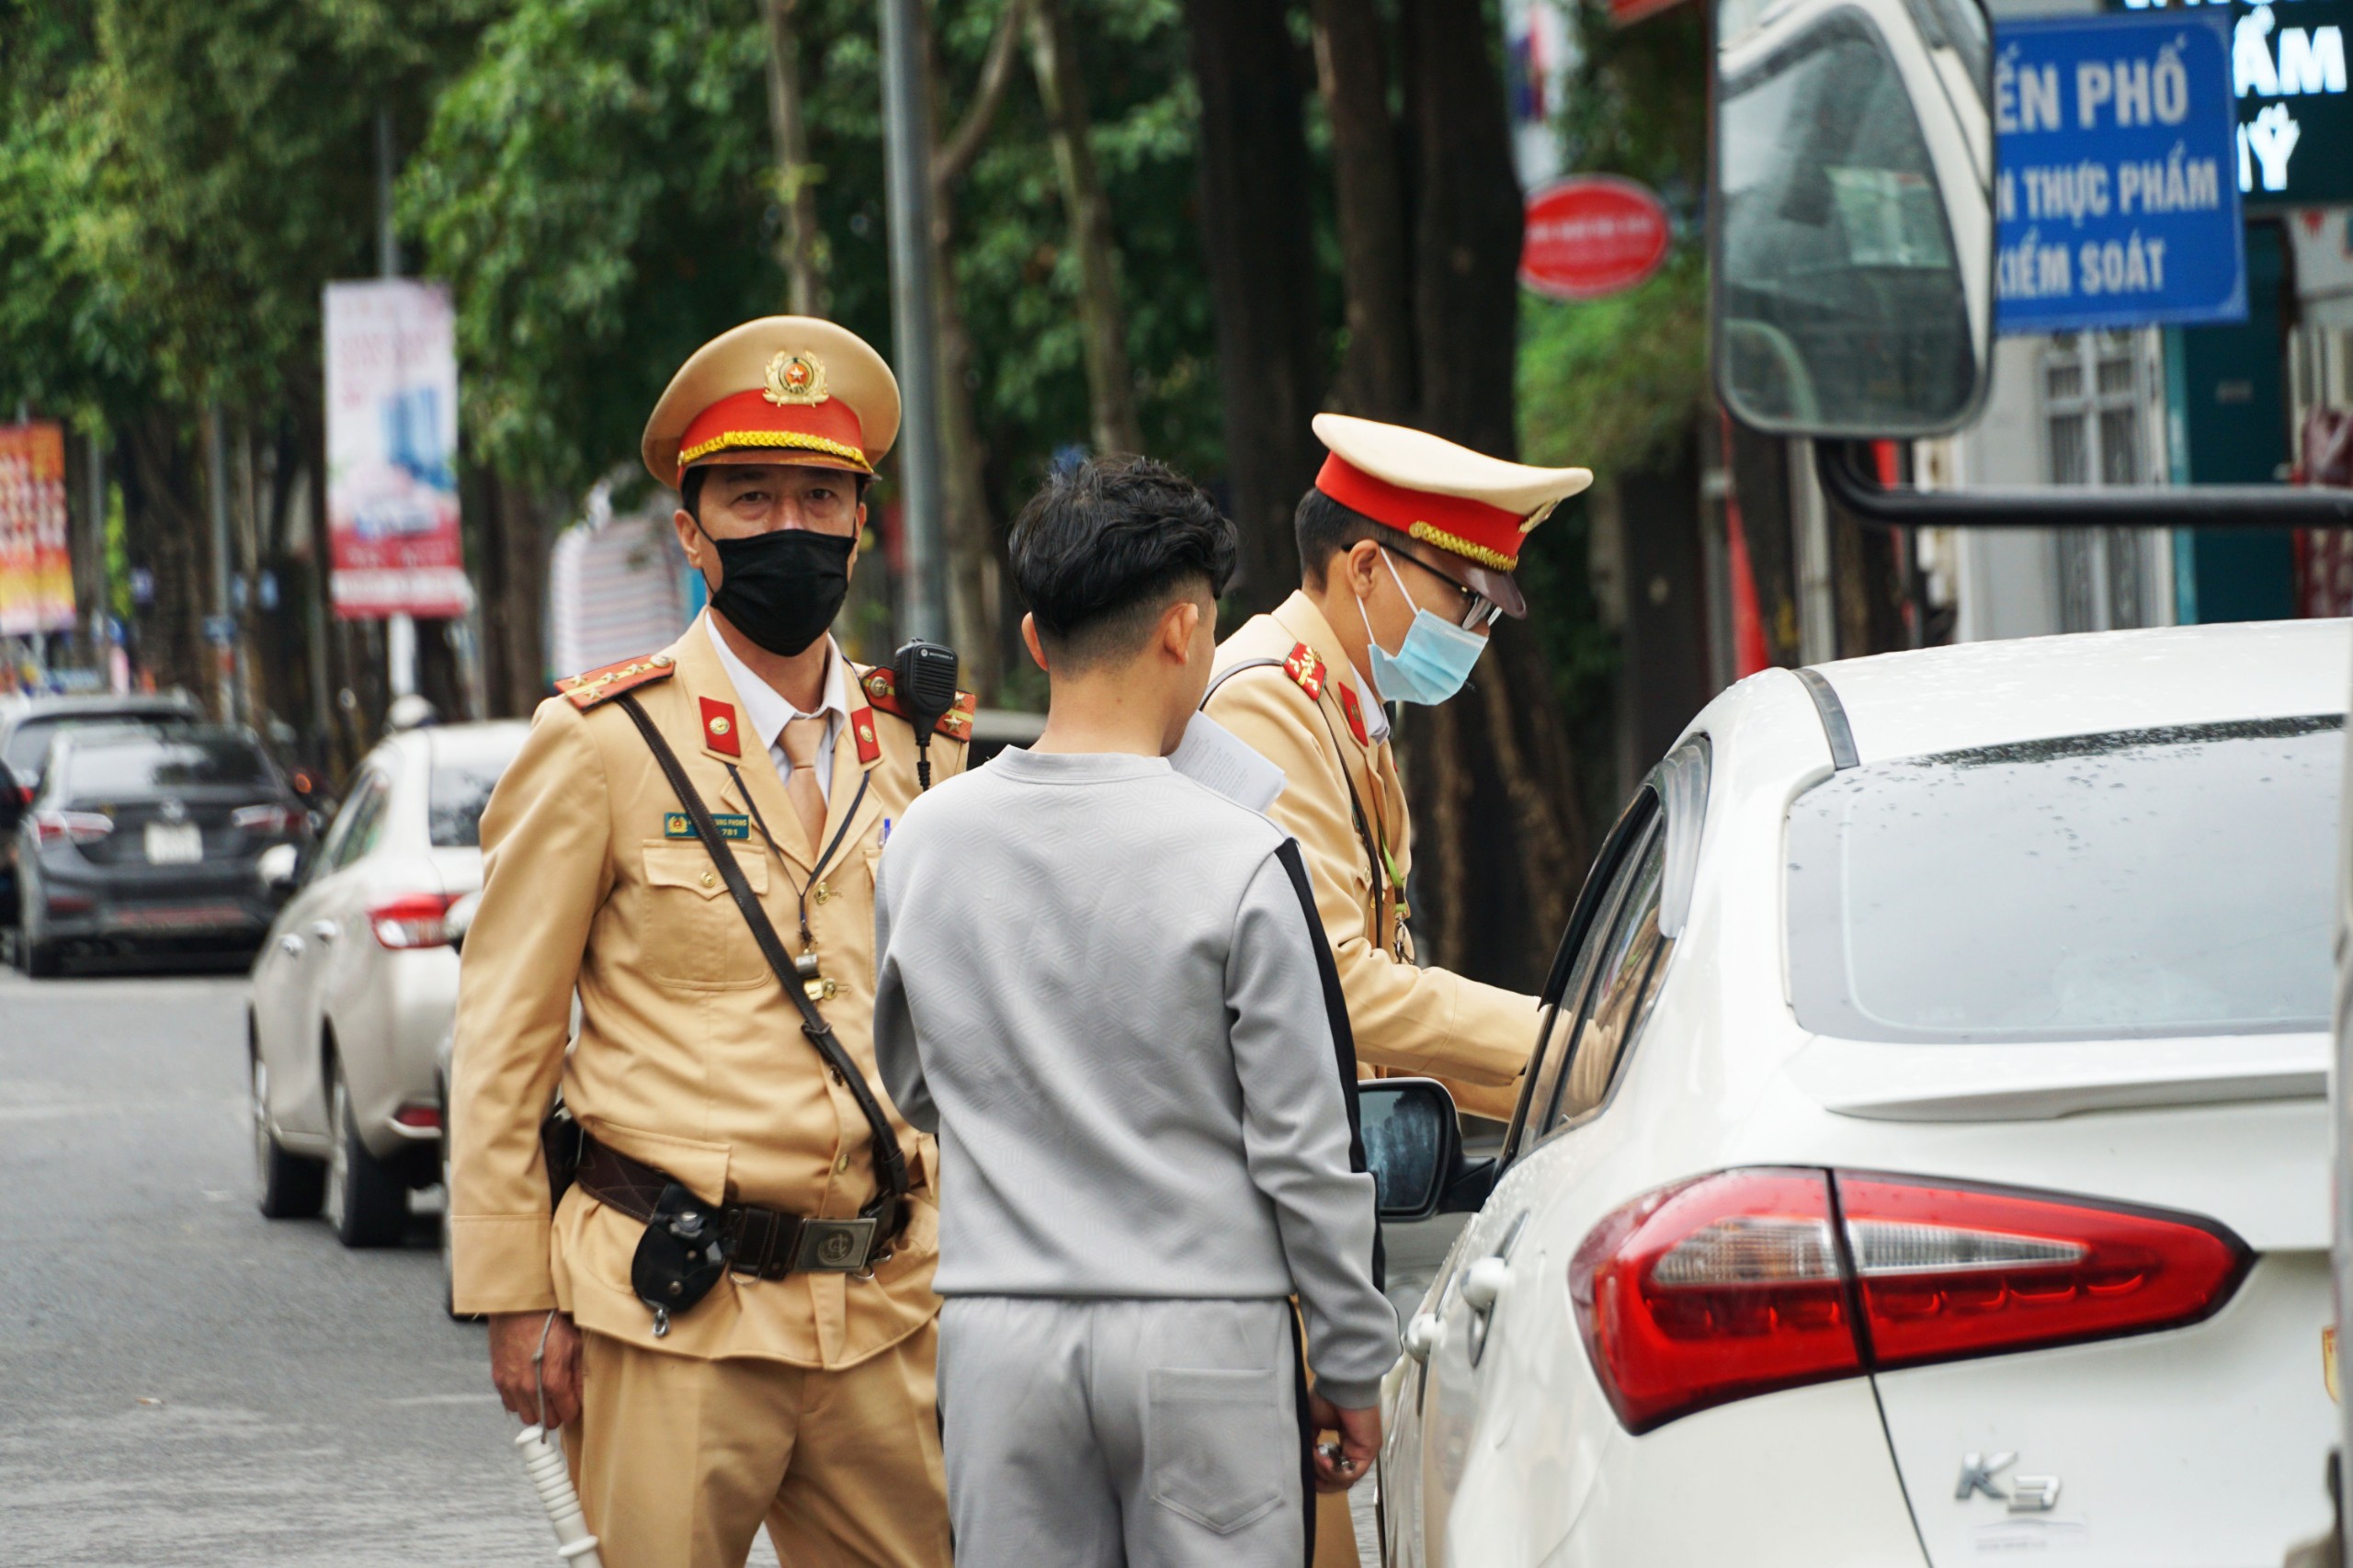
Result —
[{"label": "grey asphalt street left of the black-masked officer", "polygon": [[0,970],[0,1563],[555,1563],[438,1217],[254,1210],[242,975]]}]

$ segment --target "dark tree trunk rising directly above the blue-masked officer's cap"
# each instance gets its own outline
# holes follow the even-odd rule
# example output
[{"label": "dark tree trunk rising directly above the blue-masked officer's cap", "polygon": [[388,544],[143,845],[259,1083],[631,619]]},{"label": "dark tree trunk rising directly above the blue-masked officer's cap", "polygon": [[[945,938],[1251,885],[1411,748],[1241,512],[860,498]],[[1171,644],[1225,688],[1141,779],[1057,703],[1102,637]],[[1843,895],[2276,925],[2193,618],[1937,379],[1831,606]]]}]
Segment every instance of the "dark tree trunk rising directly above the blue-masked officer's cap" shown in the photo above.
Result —
[{"label": "dark tree trunk rising directly above the blue-masked officer's cap", "polygon": [[1405,177],[1388,118],[1388,59],[1372,0],[1315,0],[1315,82],[1332,122],[1348,351],[1339,405],[1365,419],[1414,412],[1414,299]]}]

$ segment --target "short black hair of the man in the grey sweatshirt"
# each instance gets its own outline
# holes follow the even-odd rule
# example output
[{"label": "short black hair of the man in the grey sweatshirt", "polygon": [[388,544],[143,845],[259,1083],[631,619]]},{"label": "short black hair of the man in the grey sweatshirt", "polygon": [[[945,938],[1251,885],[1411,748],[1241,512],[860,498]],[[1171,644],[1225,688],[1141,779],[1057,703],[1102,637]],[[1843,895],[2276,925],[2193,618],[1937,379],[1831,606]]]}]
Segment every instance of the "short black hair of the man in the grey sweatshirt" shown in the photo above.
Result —
[{"label": "short black hair of the man in the grey sweatshirt", "polygon": [[1209,494],[1148,457],[1052,473],[1014,518],[1014,589],[1047,659],[1132,655],[1181,591],[1226,593],[1240,537]]}]

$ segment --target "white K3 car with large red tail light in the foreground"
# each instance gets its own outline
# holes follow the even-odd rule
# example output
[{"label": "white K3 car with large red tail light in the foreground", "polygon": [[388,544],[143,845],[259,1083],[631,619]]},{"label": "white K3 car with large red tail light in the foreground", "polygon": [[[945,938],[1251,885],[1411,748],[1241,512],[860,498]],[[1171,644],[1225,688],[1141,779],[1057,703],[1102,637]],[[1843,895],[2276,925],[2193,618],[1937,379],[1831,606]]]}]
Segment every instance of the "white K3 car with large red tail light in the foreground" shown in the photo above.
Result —
[{"label": "white K3 car with large red tail light in the foreground", "polygon": [[2348,652],[2118,631],[1708,704],[1579,897],[1501,1175],[1367,1085],[1384,1212],[1478,1205],[1386,1384],[1386,1563],[2322,1533]]}]

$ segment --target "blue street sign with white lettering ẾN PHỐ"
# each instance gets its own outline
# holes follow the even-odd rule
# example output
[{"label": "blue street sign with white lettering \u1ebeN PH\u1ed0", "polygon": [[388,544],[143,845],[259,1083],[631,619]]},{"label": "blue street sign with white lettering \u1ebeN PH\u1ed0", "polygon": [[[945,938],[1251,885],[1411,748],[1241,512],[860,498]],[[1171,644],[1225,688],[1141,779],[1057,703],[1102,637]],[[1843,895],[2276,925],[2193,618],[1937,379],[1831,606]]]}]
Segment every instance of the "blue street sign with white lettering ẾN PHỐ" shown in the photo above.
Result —
[{"label": "blue street sign with white lettering \u1ebeN PH\u1ed0", "polygon": [[1995,327],[2247,320],[2221,16],[2007,21],[1993,47]]}]

